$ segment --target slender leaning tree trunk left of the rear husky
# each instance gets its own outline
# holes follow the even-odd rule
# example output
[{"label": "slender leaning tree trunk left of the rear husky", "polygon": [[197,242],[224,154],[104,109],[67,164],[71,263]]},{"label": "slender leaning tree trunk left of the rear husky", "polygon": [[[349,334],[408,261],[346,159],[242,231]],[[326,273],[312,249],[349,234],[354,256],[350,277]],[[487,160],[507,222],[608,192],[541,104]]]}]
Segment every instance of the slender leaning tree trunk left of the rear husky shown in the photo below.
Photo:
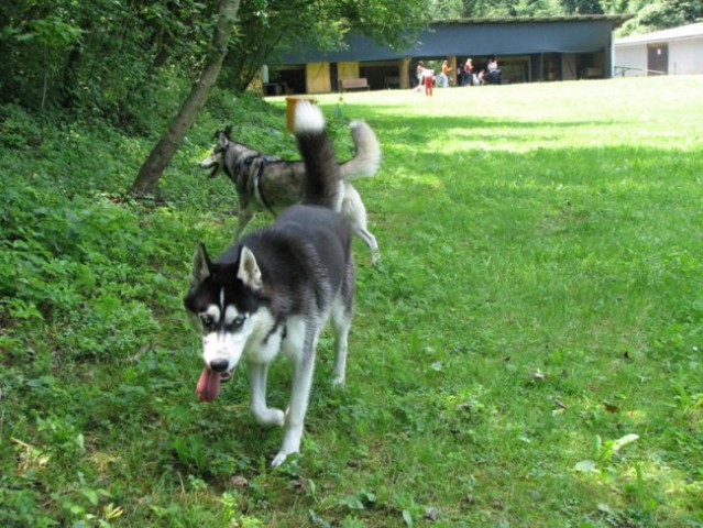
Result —
[{"label": "slender leaning tree trunk left of the rear husky", "polygon": [[132,184],[132,191],[136,194],[150,194],[158,186],[158,179],[164,169],[174,156],[180,142],[193,127],[196,116],[205,106],[210,95],[212,86],[220,74],[222,59],[227,54],[234,19],[239,10],[239,0],[220,0],[218,9],[218,22],[212,34],[212,43],[208,53],[200,77],[193,86],[188,98],[178,110],[178,113],[168,125],[166,134],[151,152],[142,168],[140,168],[136,179]]}]

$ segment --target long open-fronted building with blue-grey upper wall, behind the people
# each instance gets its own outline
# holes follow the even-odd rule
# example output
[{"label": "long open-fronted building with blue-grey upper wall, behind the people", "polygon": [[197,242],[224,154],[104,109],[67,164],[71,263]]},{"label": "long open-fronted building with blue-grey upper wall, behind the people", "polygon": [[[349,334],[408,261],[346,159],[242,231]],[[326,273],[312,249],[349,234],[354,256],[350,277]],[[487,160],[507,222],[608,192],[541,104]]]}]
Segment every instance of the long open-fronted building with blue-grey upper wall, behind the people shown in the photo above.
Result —
[{"label": "long open-fronted building with blue-grey upper wall, behind the people", "polygon": [[[448,59],[452,72],[471,57],[476,70],[496,56],[503,82],[613,76],[616,28],[629,15],[461,19],[430,23],[406,50],[382,46],[351,33],[344,46],[301,45],[268,65],[270,95],[338,91],[341,79],[365,78],[371,89],[409,88],[418,61]],[[452,79],[454,80],[454,79]]]}]

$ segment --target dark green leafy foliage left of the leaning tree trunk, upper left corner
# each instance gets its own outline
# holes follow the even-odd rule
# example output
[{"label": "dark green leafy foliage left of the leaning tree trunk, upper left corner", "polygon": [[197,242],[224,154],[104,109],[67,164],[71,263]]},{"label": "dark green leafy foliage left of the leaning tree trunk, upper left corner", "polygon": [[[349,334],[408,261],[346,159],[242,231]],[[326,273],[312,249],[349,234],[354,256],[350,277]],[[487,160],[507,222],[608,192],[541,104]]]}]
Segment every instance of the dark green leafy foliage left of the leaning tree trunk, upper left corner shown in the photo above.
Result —
[{"label": "dark green leafy foliage left of the leaning tree trunk, upper left corner", "polygon": [[[195,0],[3,4],[0,102],[65,107],[114,124],[143,125],[142,112],[171,100],[161,76],[195,70],[210,14]],[[164,68],[169,61],[171,69]]]}]

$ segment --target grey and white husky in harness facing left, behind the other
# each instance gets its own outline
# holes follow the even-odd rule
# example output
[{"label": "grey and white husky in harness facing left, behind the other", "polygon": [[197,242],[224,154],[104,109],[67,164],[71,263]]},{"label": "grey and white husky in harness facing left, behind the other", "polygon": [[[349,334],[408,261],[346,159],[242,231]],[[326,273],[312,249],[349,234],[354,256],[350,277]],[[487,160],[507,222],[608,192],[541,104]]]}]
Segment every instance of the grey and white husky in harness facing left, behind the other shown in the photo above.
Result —
[{"label": "grey and white husky in harness facing left, behind the other", "polygon": [[[297,110],[297,106],[296,106]],[[381,164],[381,146],[376,134],[363,121],[351,124],[354,157],[340,164],[339,200],[334,209],[350,223],[352,232],[371,249],[373,262],[378,260],[378,244],[366,226],[366,208],[351,182],[374,176]],[[234,184],[239,195],[237,241],[256,212],[268,210],[274,216],[288,206],[298,204],[305,187],[305,163],[281,160],[262,154],[231,139],[231,127],[215,133],[217,144],[200,168],[210,169],[210,178],[221,170]]]}]

